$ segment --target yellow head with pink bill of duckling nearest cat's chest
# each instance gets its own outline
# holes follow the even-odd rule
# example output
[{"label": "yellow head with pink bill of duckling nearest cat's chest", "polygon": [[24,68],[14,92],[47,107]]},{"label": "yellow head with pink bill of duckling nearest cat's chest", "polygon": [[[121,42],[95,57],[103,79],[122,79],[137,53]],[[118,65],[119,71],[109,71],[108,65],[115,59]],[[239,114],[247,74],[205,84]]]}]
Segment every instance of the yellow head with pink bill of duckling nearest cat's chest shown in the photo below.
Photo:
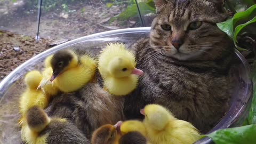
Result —
[{"label": "yellow head with pink bill of duckling nearest cat's chest", "polygon": [[108,65],[109,73],[117,78],[127,77],[132,74],[141,76],[143,71],[135,68],[135,61],[131,61],[125,57],[114,57]]}]

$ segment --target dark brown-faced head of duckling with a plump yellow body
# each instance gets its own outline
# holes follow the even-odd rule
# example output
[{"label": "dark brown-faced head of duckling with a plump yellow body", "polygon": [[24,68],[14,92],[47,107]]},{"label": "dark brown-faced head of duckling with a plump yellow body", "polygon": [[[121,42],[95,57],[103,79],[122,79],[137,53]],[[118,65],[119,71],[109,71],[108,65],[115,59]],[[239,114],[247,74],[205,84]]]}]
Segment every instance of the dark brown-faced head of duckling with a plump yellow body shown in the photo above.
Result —
[{"label": "dark brown-faced head of duckling with a plump yellow body", "polygon": [[59,74],[78,65],[77,55],[70,50],[61,50],[53,54],[51,67],[53,70],[50,81],[52,82]]}]

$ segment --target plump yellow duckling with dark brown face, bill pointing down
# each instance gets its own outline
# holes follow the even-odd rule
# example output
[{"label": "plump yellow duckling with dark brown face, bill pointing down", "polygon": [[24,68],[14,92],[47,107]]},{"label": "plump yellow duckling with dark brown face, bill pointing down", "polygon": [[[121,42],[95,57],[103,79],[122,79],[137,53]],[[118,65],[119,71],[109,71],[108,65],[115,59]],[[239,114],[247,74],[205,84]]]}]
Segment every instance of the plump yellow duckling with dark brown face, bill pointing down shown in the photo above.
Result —
[{"label": "plump yellow duckling with dark brown face, bill pointing down", "polygon": [[53,70],[50,81],[62,92],[74,92],[94,76],[96,62],[89,55],[78,55],[72,50],[61,50],[46,59]]}]

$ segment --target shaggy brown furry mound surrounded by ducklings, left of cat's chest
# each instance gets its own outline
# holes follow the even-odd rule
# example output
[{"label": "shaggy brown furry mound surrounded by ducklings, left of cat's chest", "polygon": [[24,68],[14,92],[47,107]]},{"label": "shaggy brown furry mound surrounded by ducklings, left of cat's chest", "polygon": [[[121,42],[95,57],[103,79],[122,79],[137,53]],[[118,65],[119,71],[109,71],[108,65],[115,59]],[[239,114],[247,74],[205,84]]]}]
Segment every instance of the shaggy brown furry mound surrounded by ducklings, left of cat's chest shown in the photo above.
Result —
[{"label": "shaggy brown furry mound surrounded by ducklings, left of cat's chest", "polygon": [[50,116],[72,119],[74,125],[91,139],[98,127],[124,119],[123,100],[103,90],[99,83],[88,83],[76,92],[54,97],[46,111]]}]

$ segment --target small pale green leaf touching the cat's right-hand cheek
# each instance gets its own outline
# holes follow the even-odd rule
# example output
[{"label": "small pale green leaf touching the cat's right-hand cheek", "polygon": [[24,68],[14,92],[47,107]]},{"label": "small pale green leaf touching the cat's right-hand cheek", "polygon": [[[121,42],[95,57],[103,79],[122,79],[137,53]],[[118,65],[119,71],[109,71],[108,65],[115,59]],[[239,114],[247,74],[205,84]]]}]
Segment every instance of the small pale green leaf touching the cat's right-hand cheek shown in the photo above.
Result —
[{"label": "small pale green leaf touching the cat's right-hand cheek", "polygon": [[227,21],[223,21],[217,23],[219,29],[224,31],[231,39],[234,37],[234,30],[233,30],[233,19],[228,19]]}]

